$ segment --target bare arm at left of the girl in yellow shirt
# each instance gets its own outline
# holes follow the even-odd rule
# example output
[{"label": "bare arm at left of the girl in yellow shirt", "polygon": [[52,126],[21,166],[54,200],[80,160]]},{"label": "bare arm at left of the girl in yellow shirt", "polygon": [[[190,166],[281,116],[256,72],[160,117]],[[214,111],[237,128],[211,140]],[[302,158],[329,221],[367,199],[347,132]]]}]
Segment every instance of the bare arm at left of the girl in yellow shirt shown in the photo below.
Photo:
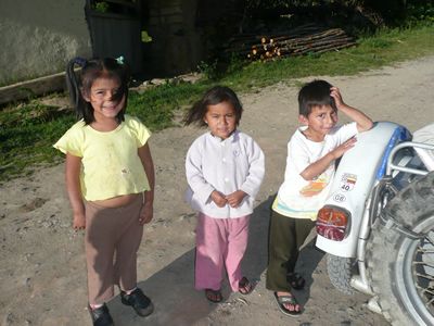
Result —
[{"label": "bare arm at left of the girl in yellow shirt", "polygon": [[73,227],[86,228],[85,203],[82,202],[80,188],[81,158],[66,153],[66,190],[73,209]]}]

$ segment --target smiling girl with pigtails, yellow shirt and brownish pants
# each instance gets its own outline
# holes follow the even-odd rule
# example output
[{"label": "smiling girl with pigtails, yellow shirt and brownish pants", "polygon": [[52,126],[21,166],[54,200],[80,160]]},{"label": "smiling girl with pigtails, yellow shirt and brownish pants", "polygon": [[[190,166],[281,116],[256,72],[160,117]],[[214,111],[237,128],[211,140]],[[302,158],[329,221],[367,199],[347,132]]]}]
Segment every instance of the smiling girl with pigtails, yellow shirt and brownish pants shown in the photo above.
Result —
[{"label": "smiling girl with pigtails, yellow shirt and brownish pants", "polygon": [[[81,66],[77,78],[74,66]],[[120,289],[124,304],[146,316],[153,304],[137,287],[137,251],[151,222],[154,165],[150,131],[125,114],[128,68],[115,59],[68,63],[67,82],[80,118],[54,145],[66,154],[73,226],[86,229],[89,312],[93,325],[113,325],[105,302]]]}]

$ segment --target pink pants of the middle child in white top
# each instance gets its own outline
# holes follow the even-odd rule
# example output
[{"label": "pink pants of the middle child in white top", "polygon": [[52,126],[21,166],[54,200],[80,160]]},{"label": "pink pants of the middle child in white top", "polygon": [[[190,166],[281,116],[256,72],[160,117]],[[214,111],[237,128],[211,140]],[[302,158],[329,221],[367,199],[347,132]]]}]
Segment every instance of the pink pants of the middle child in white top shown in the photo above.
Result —
[{"label": "pink pants of the middle child in white top", "polygon": [[219,290],[224,267],[232,291],[239,290],[241,260],[247,248],[250,215],[213,218],[199,213],[195,288]]}]

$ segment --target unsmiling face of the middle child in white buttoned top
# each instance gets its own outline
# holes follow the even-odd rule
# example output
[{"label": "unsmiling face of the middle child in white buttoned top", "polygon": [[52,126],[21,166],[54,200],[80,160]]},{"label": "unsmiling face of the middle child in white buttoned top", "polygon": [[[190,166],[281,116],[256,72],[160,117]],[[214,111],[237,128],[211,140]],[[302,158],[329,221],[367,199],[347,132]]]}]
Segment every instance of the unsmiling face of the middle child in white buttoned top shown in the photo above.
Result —
[{"label": "unsmiling face of the middle child in white buttoned top", "polygon": [[235,110],[230,102],[208,105],[204,117],[210,133],[221,139],[227,139],[237,128]]}]

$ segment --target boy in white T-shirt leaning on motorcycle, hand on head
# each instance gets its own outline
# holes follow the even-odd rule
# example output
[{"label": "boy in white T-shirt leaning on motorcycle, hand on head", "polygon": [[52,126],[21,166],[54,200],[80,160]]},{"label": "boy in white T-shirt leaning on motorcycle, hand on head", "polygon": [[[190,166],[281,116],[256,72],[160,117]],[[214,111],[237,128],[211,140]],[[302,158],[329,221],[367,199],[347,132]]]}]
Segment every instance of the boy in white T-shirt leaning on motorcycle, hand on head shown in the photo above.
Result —
[{"label": "boy in white T-shirt leaning on motorcycle, hand on head", "polygon": [[[286,315],[302,313],[290,290],[302,289],[305,279],[294,267],[329,192],[335,160],[355,146],[357,133],[372,127],[367,115],[345,104],[340,90],[324,80],[305,85],[298,92],[298,105],[304,126],[288,143],[284,181],[272,204],[266,281]],[[337,112],[353,123],[336,126]]]}]

